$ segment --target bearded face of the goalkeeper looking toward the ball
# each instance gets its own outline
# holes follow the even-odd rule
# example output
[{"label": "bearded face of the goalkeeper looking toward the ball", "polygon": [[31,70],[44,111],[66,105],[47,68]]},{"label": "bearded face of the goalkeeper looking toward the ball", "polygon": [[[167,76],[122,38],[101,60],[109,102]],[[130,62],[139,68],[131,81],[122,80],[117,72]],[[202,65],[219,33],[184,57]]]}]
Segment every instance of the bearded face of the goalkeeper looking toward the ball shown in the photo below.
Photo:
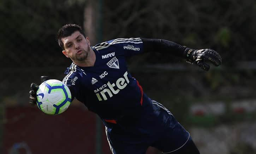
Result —
[{"label": "bearded face of the goalkeeper looking toward the ball", "polygon": [[61,39],[64,44],[62,51],[66,57],[69,57],[73,62],[81,63],[88,58],[90,54],[90,40],[88,37],[84,38],[83,34],[79,31],[75,31],[71,36]]}]

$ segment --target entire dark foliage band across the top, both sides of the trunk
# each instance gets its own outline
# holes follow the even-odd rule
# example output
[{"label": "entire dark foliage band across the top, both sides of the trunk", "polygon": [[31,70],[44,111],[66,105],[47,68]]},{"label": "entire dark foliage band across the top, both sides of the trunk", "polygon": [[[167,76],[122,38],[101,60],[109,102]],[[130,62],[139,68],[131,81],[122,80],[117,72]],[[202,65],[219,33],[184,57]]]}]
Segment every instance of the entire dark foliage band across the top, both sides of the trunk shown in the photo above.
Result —
[{"label": "entire dark foliage band across the top, both sides of the trunk", "polygon": [[[85,0],[1,0],[0,60],[9,67],[62,66],[55,34],[66,23],[83,25]],[[103,1],[103,40],[147,37],[172,40],[194,49],[213,48],[224,65],[254,60],[256,49],[256,2],[254,0],[139,0]],[[98,12],[93,12],[93,17]],[[95,18],[96,19],[96,18]],[[96,25],[95,25],[96,26]],[[97,34],[95,34],[97,35]],[[43,54],[41,54],[43,53]],[[40,55],[40,56],[39,56]],[[5,58],[3,58],[5,57]],[[31,63],[28,57],[49,59],[49,63]],[[46,58],[44,58],[46,57]],[[58,62],[54,59],[61,57]],[[173,56],[150,53],[146,63],[178,62]]]}]

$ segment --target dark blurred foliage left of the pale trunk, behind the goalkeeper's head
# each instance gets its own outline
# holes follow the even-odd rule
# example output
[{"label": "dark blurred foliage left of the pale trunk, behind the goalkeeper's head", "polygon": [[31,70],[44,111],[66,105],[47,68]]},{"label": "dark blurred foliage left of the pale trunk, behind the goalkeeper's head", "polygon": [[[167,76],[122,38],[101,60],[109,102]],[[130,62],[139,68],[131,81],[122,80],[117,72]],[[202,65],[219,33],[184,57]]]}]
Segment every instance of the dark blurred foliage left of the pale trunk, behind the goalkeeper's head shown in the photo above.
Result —
[{"label": "dark blurred foliage left of the pale trunk, behind the goalkeeper's head", "polygon": [[56,33],[66,23],[83,25],[84,6],[79,0],[1,0],[1,62],[5,67],[63,65],[67,59],[56,63],[62,56]]}]

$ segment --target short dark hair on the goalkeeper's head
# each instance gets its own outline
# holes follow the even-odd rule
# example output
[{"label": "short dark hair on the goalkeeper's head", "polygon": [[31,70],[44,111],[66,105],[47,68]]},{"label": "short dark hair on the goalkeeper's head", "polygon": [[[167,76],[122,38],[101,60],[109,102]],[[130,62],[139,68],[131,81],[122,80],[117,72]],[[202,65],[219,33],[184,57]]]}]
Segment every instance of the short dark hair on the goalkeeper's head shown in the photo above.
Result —
[{"label": "short dark hair on the goalkeeper's head", "polygon": [[57,33],[57,41],[58,41],[59,46],[63,50],[64,50],[64,44],[61,41],[61,39],[64,37],[71,36],[71,34],[74,33],[75,31],[79,31],[85,37],[85,33],[82,30],[82,27],[79,25],[76,25],[76,24],[66,24],[59,29],[59,31]]}]

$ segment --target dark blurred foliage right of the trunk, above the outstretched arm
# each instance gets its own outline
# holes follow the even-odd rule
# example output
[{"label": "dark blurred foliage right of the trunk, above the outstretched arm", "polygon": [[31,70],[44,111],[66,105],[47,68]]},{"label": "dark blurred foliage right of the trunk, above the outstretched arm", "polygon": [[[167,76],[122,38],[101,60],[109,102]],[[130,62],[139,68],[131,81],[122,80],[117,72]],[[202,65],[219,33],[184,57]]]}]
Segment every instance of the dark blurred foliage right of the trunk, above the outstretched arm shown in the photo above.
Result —
[{"label": "dark blurred foliage right of the trunk, above the outstretched arm", "polygon": [[[138,36],[168,39],[194,49],[212,48],[226,66],[256,56],[251,47],[256,41],[254,0],[113,0],[105,5],[104,40]],[[111,27],[115,30],[109,31]],[[145,62],[178,62],[173,56],[150,55]]]}]

